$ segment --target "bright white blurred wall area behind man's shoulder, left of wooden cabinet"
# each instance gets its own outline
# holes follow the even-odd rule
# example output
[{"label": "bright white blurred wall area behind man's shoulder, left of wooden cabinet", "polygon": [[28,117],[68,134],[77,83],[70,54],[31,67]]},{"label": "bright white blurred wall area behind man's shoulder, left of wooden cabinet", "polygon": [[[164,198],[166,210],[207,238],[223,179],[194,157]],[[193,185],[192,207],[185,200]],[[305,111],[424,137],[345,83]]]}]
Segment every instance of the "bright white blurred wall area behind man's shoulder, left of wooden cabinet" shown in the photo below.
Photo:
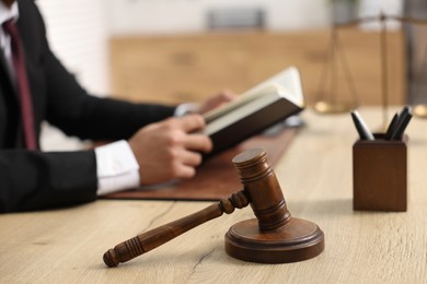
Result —
[{"label": "bright white blurred wall area behind man's shoulder, left of wooden cabinet", "polygon": [[51,49],[91,92],[108,91],[108,31],[103,0],[38,0]]}]

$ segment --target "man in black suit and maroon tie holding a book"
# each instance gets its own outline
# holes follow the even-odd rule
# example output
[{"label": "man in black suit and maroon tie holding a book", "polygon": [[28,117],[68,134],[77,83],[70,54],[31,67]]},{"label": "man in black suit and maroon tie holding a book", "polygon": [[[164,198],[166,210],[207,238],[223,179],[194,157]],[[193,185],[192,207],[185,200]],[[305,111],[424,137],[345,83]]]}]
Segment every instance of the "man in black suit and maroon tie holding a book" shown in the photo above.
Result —
[{"label": "man in black suit and maroon tie holding a book", "polygon": [[[24,99],[19,94],[25,87],[15,66],[18,45],[10,23],[22,43],[31,122],[21,116]],[[184,105],[130,104],[89,95],[49,49],[33,0],[0,0],[0,212],[89,202],[116,190],[195,175],[200,153],[211,149],[210,139],[197,133],[205,127],[200,115],[174,116]],[[203,107],[231,97],[223,93]],[[69,135],[116,142],[88,151],[42,152],[43,120]],[[35,137],[32,146],[32,134],[24,131],[28,123]]]}]

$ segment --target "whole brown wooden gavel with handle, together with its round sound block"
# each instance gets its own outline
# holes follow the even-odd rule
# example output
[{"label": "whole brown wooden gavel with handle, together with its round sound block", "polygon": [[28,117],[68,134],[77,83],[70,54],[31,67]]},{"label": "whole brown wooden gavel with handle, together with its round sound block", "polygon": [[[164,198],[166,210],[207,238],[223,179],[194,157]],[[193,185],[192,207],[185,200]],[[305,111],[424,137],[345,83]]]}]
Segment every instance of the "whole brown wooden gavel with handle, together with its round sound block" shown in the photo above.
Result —
[{"label": "whole brown wooden gavel with handle, together with its round sound block", "polygon": [[261,263],[287,263],[314,258],[324,250],[324,234],[312,222],[291,217],[263,149],[234,156],[243,189],[229,198],[152,230],[123,241],[104,253],[108,267],[141,256],[196,226],[251,204],[256,218],[233,225],[226,234],[226,252]]}]

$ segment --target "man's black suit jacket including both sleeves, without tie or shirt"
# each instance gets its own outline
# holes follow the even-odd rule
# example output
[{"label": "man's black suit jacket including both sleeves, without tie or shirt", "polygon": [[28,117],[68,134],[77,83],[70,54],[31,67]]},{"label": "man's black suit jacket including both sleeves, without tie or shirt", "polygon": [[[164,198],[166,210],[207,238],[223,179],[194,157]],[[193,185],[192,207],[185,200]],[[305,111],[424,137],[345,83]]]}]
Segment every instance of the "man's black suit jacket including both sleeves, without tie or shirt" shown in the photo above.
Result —
[{"label": "man's black suit jacket including both sleeves, without tie or shirt", "polygon": [[[18,3],[18,27],[25,49],[37,135],[41,122],[47,120],[65,133],[81,139],[128,139],[140,127],[173,114],[172,106],[136,105],[89,95],[49,49],[44,22],[34,2],[19,0]],[[96,199],[93,151],[26,151],[21,133],[18,95],[2,58],[0,212],[62,206]]]}]

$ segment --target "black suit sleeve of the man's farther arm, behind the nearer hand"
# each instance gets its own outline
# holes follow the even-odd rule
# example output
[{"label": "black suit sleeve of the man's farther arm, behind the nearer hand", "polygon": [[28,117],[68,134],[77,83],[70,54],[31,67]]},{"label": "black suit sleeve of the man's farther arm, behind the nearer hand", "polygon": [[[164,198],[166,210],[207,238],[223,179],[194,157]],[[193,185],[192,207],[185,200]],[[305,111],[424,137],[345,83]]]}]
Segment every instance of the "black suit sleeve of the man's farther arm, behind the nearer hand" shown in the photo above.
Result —
[{"label": "black suit sleeve of the man's farther arm, behind the nearer hand", "polygon": [[92,140],[130,138],[139,128],[173,116],[175,107],[131,104],[89,95],[48,54],[47,120],[69,135]]}]

